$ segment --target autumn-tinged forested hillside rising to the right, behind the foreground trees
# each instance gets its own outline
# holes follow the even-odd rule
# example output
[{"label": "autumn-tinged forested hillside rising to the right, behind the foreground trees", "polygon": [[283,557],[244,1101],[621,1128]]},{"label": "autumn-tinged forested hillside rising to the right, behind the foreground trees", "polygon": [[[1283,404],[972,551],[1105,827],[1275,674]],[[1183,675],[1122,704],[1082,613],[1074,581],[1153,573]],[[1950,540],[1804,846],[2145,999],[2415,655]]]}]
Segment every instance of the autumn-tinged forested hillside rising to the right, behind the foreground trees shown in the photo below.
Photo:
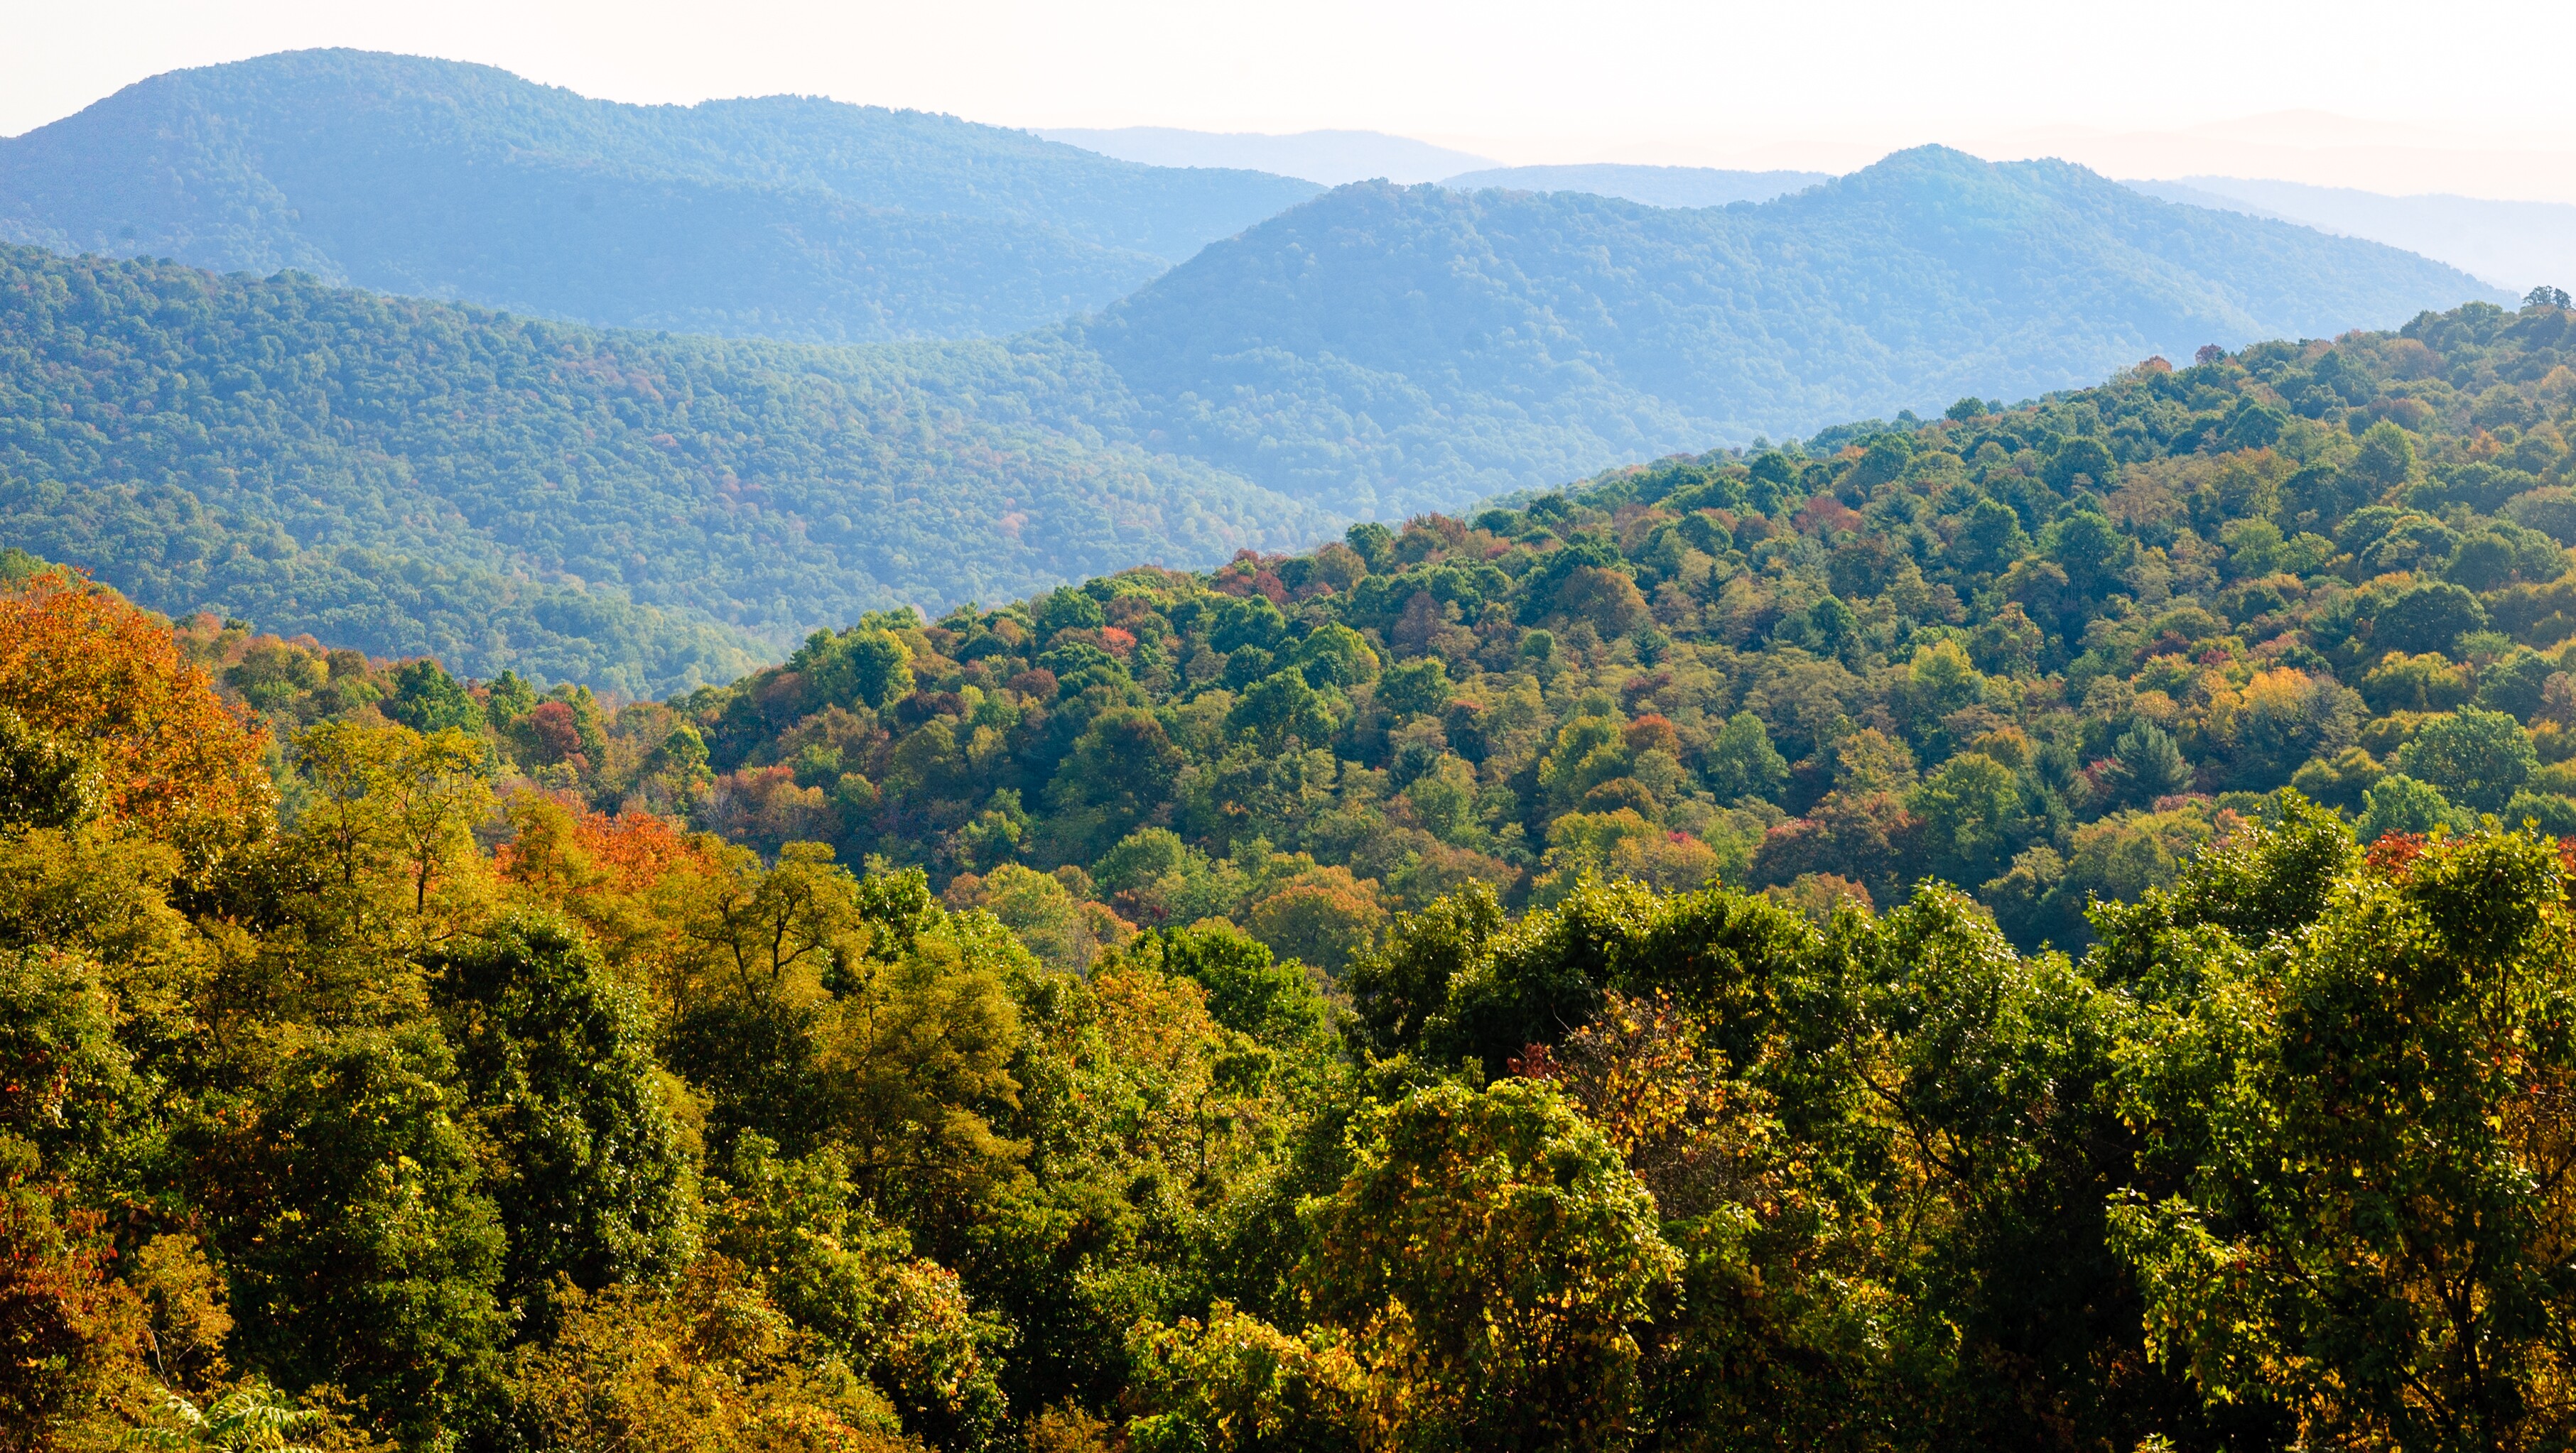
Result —
[{"label": "autumn-tinged forested hillside rising to the right, behind the foreground trees", "polygon": [[2372,832],[2576,830],[2571,358],[2563,307],[2473,304],[876,616],[685,701],[701,819],[935,884],[1079,868],[1324,964],[1463,881],[1613,871],[1880,907],[1940,876],[2079,945],[2087,894],[2280,786]]}]

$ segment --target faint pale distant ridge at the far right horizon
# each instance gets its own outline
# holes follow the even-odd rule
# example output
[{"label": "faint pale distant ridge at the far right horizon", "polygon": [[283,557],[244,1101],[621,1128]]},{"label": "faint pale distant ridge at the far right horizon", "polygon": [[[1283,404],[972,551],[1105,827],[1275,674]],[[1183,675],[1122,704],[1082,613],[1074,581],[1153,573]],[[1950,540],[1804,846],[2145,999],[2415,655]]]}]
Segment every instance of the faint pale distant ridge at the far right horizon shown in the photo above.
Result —
[{"label": "faint pale distant ridge at the far right horizon", "polygon": [[2576,206],[2563,201],[2488,201],[2476,196],[2385,196],[2344,185],[2249,178],[2133,180],[2146,196],[2277,216],[2367,237],[2522,294],[2576,278]]}]

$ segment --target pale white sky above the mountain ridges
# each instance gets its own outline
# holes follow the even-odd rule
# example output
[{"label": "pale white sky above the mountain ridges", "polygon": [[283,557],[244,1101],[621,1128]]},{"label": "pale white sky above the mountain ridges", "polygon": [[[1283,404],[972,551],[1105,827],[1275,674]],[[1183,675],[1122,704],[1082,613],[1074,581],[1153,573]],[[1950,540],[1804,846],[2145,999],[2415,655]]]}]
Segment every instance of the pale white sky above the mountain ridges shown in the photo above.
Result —
[{"label": "pale white sky above the mountain ridges", "polygon": [[0,134],[162,70],[366,46],[616,100],[1358,126],[1507,162],[1847,170],[1950,142],[2576,201],[2568,39],[2566,0],[0,0]]}]

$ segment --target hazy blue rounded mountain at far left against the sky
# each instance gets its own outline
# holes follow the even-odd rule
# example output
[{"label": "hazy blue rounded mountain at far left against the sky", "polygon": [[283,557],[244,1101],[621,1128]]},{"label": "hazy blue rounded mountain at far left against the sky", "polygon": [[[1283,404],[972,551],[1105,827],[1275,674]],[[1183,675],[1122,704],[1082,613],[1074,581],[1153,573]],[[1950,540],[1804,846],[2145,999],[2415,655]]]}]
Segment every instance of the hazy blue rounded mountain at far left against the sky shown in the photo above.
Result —
[{"label": "hazy blue rounded mountain at far left against the sky", "polygon": [[621,106],[371,52],[180,70],[0,142],[0,240],[613,327],[1005,335],[1314,196],[953,116]]}]

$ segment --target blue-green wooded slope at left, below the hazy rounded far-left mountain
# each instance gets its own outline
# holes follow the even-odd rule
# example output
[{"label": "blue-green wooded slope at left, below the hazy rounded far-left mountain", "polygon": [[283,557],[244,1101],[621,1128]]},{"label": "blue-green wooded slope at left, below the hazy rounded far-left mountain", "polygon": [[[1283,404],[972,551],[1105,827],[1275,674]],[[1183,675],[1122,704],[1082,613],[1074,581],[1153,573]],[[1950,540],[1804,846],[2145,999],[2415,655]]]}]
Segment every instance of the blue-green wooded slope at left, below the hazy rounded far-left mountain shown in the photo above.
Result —
[{"label": "blue-green wooded slope at left, below the hazy rounded far-left mountain", "polygon": [[600,332],[0,247],[0,541],[167,613],[670,693],[860,611],[1334,520],[1084,425],[1056,348]]}]

